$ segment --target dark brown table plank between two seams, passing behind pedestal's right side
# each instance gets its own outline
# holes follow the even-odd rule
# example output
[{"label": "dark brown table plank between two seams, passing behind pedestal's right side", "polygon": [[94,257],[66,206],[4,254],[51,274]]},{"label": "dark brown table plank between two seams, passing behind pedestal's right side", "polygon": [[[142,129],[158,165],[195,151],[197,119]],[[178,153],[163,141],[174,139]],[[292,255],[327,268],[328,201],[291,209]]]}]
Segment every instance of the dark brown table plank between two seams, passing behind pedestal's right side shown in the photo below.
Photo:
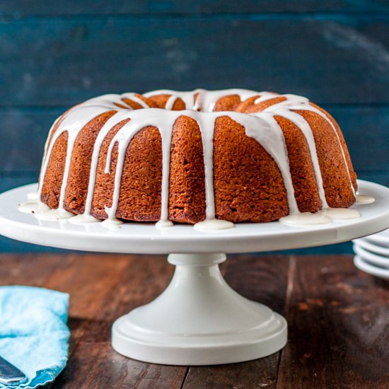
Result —
[{"label": "dark brown table plank between two seams, passing behind pedestal's right side", "polygon": [[[222,269],[238,293],[284,314],[289,269],[286,257],[231,256]],[[241,364],[192,366],[183,388],[275,388],[279,354]]]}]

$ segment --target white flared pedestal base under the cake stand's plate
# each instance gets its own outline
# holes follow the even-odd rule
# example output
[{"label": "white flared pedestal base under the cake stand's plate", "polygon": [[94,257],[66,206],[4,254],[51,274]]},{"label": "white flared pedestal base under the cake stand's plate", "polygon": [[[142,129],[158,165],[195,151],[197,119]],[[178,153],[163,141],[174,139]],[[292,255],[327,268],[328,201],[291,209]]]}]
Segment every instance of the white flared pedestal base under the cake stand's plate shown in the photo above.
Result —
[{"label": "white flared pedestal base under the cake stand's plate", "polygon": [[140,361],[228,364],[261,358],[286,344],[279,314],[240,296],[219,270],[224,254],[170,254],[175,273],[161,296],[117,319],[112,346]]}]

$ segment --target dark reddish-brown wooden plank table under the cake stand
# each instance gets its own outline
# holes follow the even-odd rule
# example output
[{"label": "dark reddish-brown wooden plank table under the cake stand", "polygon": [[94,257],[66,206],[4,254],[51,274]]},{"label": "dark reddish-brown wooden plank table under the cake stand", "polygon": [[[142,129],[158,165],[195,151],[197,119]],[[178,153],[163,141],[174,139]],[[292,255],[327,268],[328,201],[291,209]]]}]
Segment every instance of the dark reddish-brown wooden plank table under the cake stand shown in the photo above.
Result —
[{"label": "dark reddish-brown wooden plank table under the cake stand", "polygon": [[389,388],[388,282],[344,255],[236,255],[221,269],[240,294],[286,316],[281,352],[202,367],[114,352],[113,320],[158,296],[172,277],[163,256],[0,255],[0,284],[71,295],[69,362],[52,388]]}]

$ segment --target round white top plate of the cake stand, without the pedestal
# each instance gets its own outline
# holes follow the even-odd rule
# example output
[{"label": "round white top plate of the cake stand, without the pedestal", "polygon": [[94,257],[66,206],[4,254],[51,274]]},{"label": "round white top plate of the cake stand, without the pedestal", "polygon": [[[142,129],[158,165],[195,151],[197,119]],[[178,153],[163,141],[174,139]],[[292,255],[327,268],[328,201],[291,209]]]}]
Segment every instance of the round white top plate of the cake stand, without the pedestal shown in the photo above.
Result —
[{"label": "round white top plate of the cake stand, without the pedestal", "polygon": [[334,221],[310,228],[272,223],[237,223],[219,232],[201,232],[193,226],[175,225],[159,230],[150,223],[124,223],[110,231],[94,223],[75,226],[66,221],[39,221],[17,206],[37,184],[0,194],[0,234],[28,243],[93,252],[168,254],[171,252],[261,252],[340,243],[383,231],[389,227],[389,188],[359,180],[359,192],[376,198],[373,204],[356,206],[361,218]]}]

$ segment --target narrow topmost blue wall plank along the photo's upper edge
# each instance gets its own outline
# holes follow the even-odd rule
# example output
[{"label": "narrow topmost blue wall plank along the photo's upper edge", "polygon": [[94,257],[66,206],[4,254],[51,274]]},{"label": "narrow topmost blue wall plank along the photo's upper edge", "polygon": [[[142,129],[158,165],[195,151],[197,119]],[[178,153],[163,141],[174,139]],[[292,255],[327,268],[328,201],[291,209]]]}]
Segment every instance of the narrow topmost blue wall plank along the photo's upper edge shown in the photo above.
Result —
[{"label": "narrow topmost blue wall plank along the photo's upper edge", "polygon": [[127,15],[142,13],[264,13],[264,12],[372,12],[388,11],[388,2],[381,1],[320,1],[320,0],[150,0],[150,1],[66,1],[57,0],[55,6],[45,0],[2,0],[0,15],[28,16],[28,15]]}]

